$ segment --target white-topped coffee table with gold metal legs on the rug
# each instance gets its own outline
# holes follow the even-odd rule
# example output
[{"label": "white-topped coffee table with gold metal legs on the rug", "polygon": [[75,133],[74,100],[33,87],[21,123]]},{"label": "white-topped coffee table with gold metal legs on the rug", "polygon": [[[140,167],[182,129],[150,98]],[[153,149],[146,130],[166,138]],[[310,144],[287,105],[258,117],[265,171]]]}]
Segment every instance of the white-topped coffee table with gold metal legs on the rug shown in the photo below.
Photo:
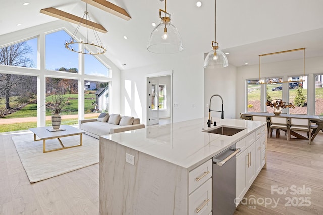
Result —
[{"label": "white-topped coffee table with gold metal legs on the rug", "polygon": [[[78,129],[78,128],[75,128],[75,127],[72,127],[69,125],[61,125],[60,129],[63,129],[63,130],[50,132],[49,130],[52,130],[52,127],[29,128],[29,130],[31,130],[31,132],[34,133],[34,141],[43,140],[43,153],[57,151],[57,150],[63,150],[63,149],[71,148],[71,147],[82,146],[82,134],[85,133],[84,130],[81,130],[81,129]],[[75,136],[75,135],[80,135],[80,144],[65,147],[60,138],[67,137],[67,136]],[[40,139],[36,139],[36,136],[38,136]],[[52,150],[46,151],[46,140],[47,139],[58,139],[60,144],[62,145],[62,148],[57,148],[57,149],[52,149]]]}]

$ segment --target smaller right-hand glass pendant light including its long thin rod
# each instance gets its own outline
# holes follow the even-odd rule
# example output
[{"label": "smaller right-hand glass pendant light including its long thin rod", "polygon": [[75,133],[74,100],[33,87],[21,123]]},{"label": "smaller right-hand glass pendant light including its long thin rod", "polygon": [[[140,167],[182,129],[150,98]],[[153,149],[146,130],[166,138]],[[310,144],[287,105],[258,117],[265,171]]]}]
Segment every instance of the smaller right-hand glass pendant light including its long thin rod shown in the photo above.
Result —
[{"label": "smaller right-hand glass pendant light including its long thin rod", "polygon": [[224,68],[229,65],[227,56],[220,50],[216,40],[217,23],[217,1],[214,0],[214,41],[212,41],[212,50],[207,54],[204,60],[204,68]]}]

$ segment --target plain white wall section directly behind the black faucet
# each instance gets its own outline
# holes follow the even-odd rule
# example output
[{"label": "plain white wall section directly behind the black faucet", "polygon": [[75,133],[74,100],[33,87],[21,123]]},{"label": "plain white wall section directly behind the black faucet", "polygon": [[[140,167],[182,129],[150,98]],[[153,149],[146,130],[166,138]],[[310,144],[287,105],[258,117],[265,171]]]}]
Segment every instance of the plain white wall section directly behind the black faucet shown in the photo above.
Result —
[{"label": "plain white wall section directly behind the black faucet", "polygon": [[[236,118],[236,73],[230,65],[220,69],[205,69],[204,73],[204,116],[208,116],[210,98],[219,94],[223,99],[224,118]],[[221,99],[212,98],[211,110],[221,110]],[[220,117],[220,112],[211,112],[212,117]]]}]

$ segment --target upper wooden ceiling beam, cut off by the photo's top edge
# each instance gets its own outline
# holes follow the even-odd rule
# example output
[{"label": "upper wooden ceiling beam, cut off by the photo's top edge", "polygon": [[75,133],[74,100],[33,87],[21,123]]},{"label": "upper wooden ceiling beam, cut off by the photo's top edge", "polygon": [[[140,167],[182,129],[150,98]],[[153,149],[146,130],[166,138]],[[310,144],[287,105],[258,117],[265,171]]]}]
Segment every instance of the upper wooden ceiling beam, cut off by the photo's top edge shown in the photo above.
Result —
[{"label": "upper wooden ceiling beam, cut off by the photo's top edge", "polygon": [[93,5],[99,9],[102,9],[103,11],[109,12],[113,15],[116,15],[117,17],[120,17],[124,20],[130,20],[131,17],[127,13],[127,11],[111,2],[108,2],[106,0],[82,0],[83,2],[86,2],[90,5]]}]

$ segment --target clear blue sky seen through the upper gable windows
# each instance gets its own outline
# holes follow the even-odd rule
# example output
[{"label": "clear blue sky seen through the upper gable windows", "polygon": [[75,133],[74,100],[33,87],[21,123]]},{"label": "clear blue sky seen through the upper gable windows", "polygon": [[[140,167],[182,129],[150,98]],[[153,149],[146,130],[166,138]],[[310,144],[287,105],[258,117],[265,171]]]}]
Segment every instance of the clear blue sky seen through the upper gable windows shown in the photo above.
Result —
[{"label": "clear blue sky seen through the upper gable windows", "polygon": [[[64,68],[78,68],[78,53],[65,48],[65,41],[71,38],[65,31],[61,30],[51,34],[47,34],[45,63],[46,69],[57,70]],[[37,38],[26,41],[32,47],[33,52],[30,54],[30,59],[34,62],[34,67],[37,66]],[[98,61],[93,55],[84,55],[85,74],[107,76],[108,68]]]}]

